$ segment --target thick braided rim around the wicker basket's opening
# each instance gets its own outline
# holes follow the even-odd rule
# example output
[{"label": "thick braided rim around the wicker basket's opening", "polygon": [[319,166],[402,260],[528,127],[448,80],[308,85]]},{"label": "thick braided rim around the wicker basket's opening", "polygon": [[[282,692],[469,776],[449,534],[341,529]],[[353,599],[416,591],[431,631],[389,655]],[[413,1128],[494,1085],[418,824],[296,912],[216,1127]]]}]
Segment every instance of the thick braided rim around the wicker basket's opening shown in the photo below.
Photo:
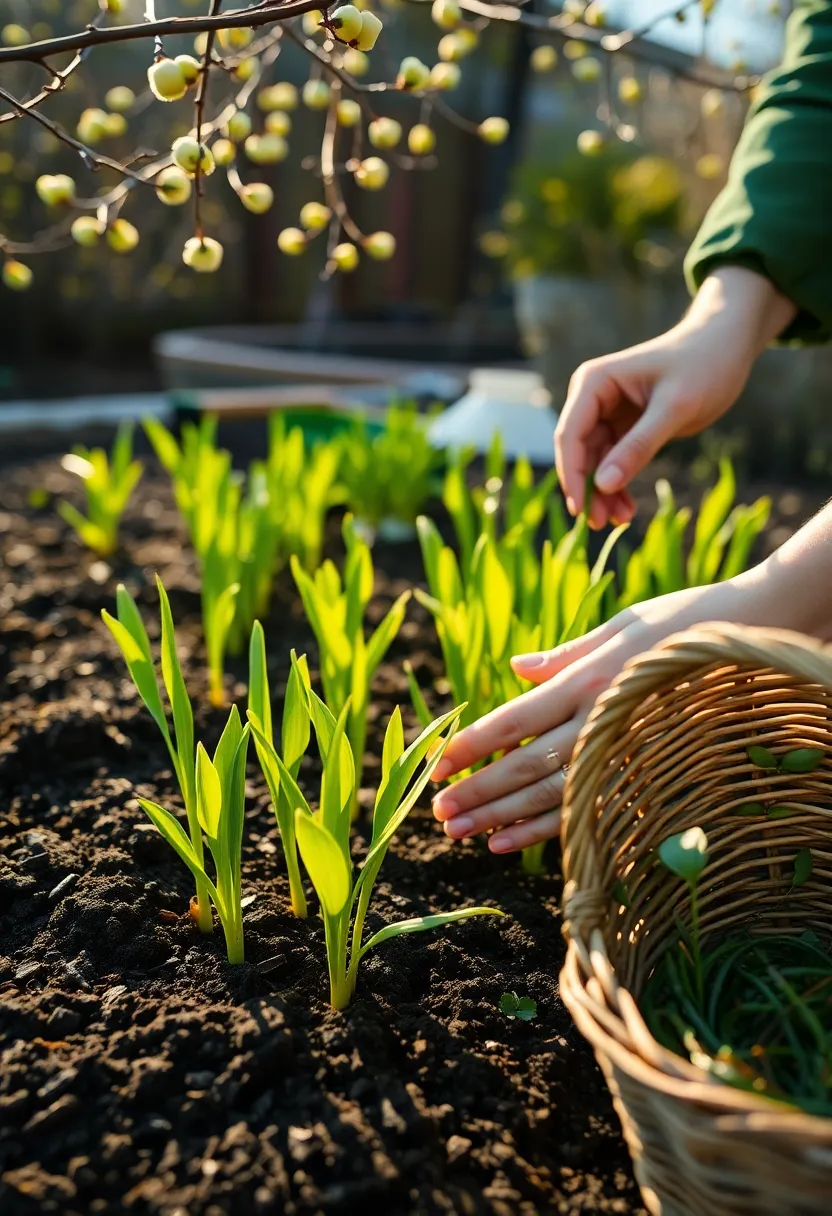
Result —
[{"label": "thick braided rim around the wicker basket's opening", "polygon": [[[832,1149],[832,1118],[785,1109],[760,1094],[725,1085],[660,1046],[641,1018],[635,997],[619,984],[608,958],[602,933],[606,921],[597,913],[605,901],[581,900],[588,891],[586,873],[592,863],[600,884],[600,867],[594,856],[594,811],[602,766],[595,744],[603,741],[605,732],[628,703],[637,704],[651,691],[667,686],[669,680],[684,677],[686,671],[729,664],[768,668],[832,689],[832,646],[803,634],[759,626],[698,625],[674,634],[625,664],[598,697],[581,728],[567,776],[563,933],[568,948],[560,974],[560,991],[575,1025],[596,1053],[634,1081],[693,1103],[703,1111],[707,1109],[720,1121],[730,1120],[733,1125],[738,1119],[748,1131],[802,1139],[808,1149],[828,1152]],[[622,997],[626,1017],[620,1008]],[[609,1025],[614,1025],[615,1034],[607,1029]],[[640,1048],[634,1028],[637,1040],[648,1046],[651,1058]]]}]

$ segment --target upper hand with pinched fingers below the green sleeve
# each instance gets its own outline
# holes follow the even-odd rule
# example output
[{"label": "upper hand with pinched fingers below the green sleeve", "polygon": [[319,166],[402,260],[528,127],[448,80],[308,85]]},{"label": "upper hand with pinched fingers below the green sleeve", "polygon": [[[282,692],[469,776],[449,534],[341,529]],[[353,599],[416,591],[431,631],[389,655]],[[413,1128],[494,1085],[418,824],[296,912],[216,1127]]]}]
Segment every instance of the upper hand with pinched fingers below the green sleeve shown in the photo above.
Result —
[{"label": "upper hand with pinched fingers below the green sleeve", "polygon": [[667,333],[583,364],[555,432],[567,506],[584,506],[595,469],[591,523],[634,514],[628,485],[670,439],[696,435],[733,405],[757,356],[796,309],[761,275],[725,266],[702,285],[687,316]]}]

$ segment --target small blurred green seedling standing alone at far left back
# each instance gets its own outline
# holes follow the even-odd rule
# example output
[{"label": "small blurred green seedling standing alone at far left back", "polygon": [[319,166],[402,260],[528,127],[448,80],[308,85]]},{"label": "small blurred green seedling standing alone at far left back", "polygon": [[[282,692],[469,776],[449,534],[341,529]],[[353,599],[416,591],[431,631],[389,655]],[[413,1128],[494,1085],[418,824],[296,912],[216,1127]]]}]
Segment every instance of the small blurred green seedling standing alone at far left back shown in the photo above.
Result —
[{"label": "small blurred green seedling standing alone at far left back", "polygon": [[133,458],[133,427],[118,428],[109,456],[103,447],[78,446],[61,465],[81,479],[86,516],[71,502],[58,502],[58,514],[88,548],[109,557],[118,547],[118,527],[142,473],[141,462]]}]

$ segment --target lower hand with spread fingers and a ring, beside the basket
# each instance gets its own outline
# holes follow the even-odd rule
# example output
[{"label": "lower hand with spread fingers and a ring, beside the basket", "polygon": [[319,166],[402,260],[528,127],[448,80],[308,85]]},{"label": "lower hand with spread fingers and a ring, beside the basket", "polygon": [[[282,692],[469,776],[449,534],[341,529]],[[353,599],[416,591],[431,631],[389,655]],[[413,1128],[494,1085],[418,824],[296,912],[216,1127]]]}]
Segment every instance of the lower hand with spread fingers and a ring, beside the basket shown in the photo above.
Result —
[{"label": "lower hand with spread fingers and a ring, beside the basket", "polygon": [[[539,687],[451,739],[434,781],[445,781],[494,753],[507,754],[435,795],[433,814],[445,834],[461,840],[493,831],[489,849],[497,854],[557,835],[563,767],[598,694],[628,659],[670,634],[705,620],[748,618],[747,578],[650,599],[574,642],[512,659],[515,671]],[[532,742],[521,747],[523,739]]]}]

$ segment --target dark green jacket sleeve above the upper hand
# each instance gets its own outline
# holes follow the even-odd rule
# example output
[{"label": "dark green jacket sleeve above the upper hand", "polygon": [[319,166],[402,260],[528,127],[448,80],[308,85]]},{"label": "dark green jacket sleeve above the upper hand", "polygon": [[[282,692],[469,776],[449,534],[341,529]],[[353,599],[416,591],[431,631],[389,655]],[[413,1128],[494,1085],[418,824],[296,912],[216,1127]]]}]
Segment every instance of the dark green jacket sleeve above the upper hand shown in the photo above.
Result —
[{"label": "dark green jacket sleeve above the upper hand", "polygon": [[685,260],[765,275],[799,308],[782,340],[832,337],[832,2],[797,0],[783,62],[748,113],[729,181]]}]

